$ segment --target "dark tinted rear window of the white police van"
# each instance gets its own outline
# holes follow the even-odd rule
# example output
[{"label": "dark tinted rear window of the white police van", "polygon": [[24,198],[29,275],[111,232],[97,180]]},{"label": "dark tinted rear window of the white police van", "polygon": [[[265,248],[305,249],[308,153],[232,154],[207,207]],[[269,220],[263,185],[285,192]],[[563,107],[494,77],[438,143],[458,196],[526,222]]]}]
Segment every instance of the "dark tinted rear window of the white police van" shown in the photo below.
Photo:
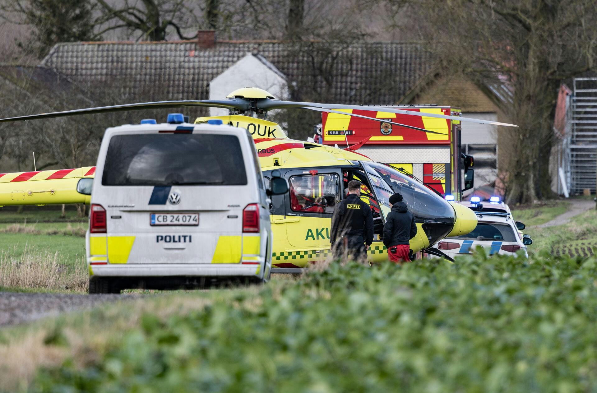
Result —
[{"label": "dark tinted rear window of the white police van", "polygon": [[116,135],[110,139],[101,184],[242,186],[247,173],[233,135]]}]

